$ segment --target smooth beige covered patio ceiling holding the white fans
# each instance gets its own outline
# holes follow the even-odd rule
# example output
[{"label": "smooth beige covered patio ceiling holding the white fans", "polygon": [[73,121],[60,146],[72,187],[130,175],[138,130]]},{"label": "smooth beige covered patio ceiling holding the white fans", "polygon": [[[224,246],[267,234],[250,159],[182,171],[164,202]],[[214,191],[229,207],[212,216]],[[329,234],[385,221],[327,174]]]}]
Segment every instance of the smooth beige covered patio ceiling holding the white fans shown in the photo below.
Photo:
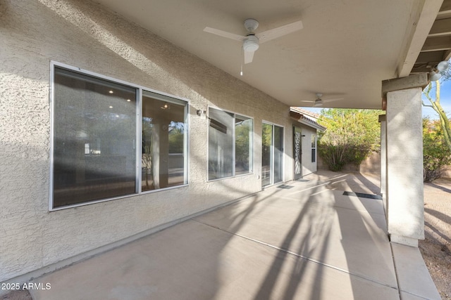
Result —
[{"label": "smooth beige covered patio ceiling holding the white fans", "polygon": [[[450,57],[451,0],[93,1],[290,106],[323,93],[342,98],[325,107],[380,109],[382,80]],[[243,64],[240,41],[204,28],[245,35],[247,18],[259,21],[257,34],[297,20],[304,28]]]}]

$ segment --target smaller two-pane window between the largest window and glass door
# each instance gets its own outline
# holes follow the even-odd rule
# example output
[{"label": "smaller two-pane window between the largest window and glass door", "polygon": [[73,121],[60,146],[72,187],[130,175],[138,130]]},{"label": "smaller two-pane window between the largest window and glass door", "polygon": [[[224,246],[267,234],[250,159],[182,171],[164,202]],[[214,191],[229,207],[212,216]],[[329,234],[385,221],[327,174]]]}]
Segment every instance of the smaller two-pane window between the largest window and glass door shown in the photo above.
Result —
[{"label": "smaller two-pane window between the largest window and glass door", "polygon": [[252,172],[253,120],[209,108],[209,180]]}]

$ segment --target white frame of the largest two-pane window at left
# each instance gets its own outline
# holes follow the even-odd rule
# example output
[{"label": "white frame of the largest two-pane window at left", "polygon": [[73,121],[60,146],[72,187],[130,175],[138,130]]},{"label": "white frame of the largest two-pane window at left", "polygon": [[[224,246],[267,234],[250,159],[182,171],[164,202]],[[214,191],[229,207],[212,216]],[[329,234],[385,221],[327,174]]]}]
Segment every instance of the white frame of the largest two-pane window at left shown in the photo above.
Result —
[{"label": "white frame of the largest two-pane window at left", "polygon": [[[113,84],[121,84],[124,86],[129,86],[130,88],[136,89],[136,99],[135,99],[135,122],[136,122],[136,132],[135,137],[135,193],[128,195],[121,195],[117,197],[109,197],[100,200],[92,200],[87,202],[80,202],[76,204],[65,205],[61,207],[54,207],[54,135],[55,135],[55,69],[60,68],[63,70],[68,70],[70,72],[75,72],[81,75],[94,77],[97,79],[101,79],[104,81],[110,81]],[[185,103],[184,109],[184,122],[185,122],[185,130],[184,130],[184,138],[183,138],[183,149],[184,153],[184,175],[183,180],[184,183],[181,185],[175,185],[167,188],[159,188],[156,190],[146,190],[142,191],[142,96],[143,91],[147,91],[156,96],[159,96],[163,99],[170,100],[174,99],[172,102],[177,105],[182,105],[181,103]],[[75,207],[82,207],[90,204],[97,204],[101,202],[108,202],[112,200],[125,199],[129,197],[135,197],[139,195],[149,194],[149,193],[157,193],[164,190],[173,190],[176,188],[183,188],[189,185],[188,174],[189,174],[189,153],[190,153],[190,145],[189,145],[189,131],[188,128],[190,126],[190,100],[187,98],[182,98],[179,96],[171,95],[169,93],[164,93],[161,91],[156,91],[155,89],[150,89],[146,86],[141,86],[139,84],[133,84],[128,81],[123,81],[121,79],[116,79],[113,77],[109,77],[103,74],[99,74],[97,72],[92,72],[89,70],[81,69],[80,67],[73,67],[72,65],[66,65],[64,63],[58,63],[54,60],[50,61],[50,83],[49,83],[49,107],[50,107],[50,153],[49,153],[49,211],[60,211],[63,209],[70,209]]]}]

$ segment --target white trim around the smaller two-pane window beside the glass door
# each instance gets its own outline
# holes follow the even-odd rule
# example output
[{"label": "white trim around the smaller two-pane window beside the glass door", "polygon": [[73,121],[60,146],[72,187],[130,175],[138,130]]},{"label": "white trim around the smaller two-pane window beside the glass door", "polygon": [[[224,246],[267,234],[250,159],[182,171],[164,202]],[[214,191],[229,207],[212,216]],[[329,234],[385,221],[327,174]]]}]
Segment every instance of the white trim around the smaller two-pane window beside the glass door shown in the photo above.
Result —
[{"label": "white trim around the smaller two-pane window beside the glass door", "polygon": [[233,114],[233,119],[236,118],[236,116],[240,116],[240,117],[245,117],[248,119],[252,119],[252,139],[251,141],[249,141],[249,144],[252,145],[252,151],[250,151],[250,157],[249,157],[249,161],[252,159],[252,169],[249,170],[249,173],[246,174],[239,174],[239,175],[235,175],[235,123],[233,125],[233,148],[232,148],[232,164],[233,164],[233,169],[232,169],[232,176],[227,176],[227,177],[222,177],[222,178],[215,178],[215,179],[209,179],[209,147],[210,147],[210,134],[209,134],[209,130],[210,130],[210,126],[209,126],[209,122],[206,122],[206,182],[213,182],[213,181],[221,181],[224,179],[229,179],[229,178],[236,178],[236,177],[242,177],[242,176],[249,176],[249,175],[253,175],[254,174],[254,134],[255,134],[255,122],[254,122],[254,117],[250,117],[244,114],[240,114],[237,112],[233,112],[230,110],[223,110],[220,107],[217,107],[216,105],[209,105],[207,107],[207,111],[206,111],[206,119],[209,119],[209,115],[210,115],[210,109],[213,108],[215,110],[221,110],[222,112],[227,112],[230,114]]}]

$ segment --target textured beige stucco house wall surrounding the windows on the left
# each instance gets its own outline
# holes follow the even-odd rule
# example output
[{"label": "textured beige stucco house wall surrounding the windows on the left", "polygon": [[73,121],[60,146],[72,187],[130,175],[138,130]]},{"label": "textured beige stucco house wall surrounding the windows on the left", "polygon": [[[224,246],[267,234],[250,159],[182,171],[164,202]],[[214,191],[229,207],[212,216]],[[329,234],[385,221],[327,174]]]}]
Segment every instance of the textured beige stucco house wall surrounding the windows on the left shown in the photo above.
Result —
[{"label": "textured beige stucco house wall surrounding the windows on the left", "polygon": [[[89,1],[0,4],[0,282],[261,190],[261,121],[289,107]],[[50,62],[190,99],[189,185],[49,212]],[[254,173],[206,182],[206,120],[214,105],[254,118]]]}]

